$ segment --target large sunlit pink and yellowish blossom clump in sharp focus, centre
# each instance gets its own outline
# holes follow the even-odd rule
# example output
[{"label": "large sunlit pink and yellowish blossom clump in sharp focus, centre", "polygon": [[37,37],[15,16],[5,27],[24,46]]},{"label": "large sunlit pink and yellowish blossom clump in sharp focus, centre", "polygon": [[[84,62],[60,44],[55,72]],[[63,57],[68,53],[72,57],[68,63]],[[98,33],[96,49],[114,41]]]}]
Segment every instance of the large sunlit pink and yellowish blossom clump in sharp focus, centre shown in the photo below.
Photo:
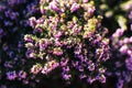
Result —
[{"label": "large sunlit pink and yellowish blossom clump in sharp focus, centre", "polygon": [[94,1],[41,0],[40,11],[41,18],[29,19],[33,34],[24,36],[26,57],[44,64],[40,73],[48,75],[61,68],[65,80],[70,80],[75,70],[90,84],[106,82],[108,30],[101,26],[102,16],[95,14]]}]

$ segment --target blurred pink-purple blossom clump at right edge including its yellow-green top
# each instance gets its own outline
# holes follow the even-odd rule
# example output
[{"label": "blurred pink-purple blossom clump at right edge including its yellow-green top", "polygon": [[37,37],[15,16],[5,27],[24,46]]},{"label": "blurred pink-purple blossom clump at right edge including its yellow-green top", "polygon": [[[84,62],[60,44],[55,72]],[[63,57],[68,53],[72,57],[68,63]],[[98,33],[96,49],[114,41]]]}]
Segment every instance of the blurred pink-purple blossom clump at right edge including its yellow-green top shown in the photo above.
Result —
[{"label": "blurred pink-purple blossom clump at right edge including its yellow-green top", "polygon": [[[111,72],[118,78],[117,88],[123,88],[132,82],[132,19],[131,9],[128,9],[128,18],[119,15],[120,29],[111,36],[112,61],[114,66]],[[128,23],[128,24],[127,24]],[[112,65],[114,64],[114,65]]]}]

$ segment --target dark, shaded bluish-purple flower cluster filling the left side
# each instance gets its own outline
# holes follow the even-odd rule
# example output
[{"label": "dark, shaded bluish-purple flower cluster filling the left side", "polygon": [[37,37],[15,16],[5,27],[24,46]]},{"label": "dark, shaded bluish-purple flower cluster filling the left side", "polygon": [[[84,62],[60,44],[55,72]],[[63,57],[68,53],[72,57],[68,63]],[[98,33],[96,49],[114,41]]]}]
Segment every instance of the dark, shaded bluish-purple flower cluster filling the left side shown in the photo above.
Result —
[{"label": "dark, shaded bluish-purple flower cluster filling the left side", "polygon": [[28,19],[38,11],[35,4],[35,0],[0,0],[0,88],[9,88],[13,80],[28,81],[22,40],[30,33]]}]

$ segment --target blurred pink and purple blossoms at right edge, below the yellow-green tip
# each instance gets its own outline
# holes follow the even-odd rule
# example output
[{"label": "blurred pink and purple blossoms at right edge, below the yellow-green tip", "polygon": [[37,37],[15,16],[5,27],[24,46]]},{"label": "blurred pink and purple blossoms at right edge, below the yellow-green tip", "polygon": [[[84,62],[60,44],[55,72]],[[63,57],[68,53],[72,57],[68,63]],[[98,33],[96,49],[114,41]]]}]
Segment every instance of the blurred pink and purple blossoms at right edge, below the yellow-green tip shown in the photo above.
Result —
[{"label": "blurred pink and purple blossoms at right edge, below the yellow-green tip", "polygon": [[[121,34],[117,34],[118,32]],[[117,55],[113,54],[116,63],[114,74],[119,78],[119,84],[122,82],[122,86],[118,88],[122,88],[124,84],[132,81],[132,36],[124,36],[124,32],[127,31],[118,29],[112,36],[112,50],[114,50],[114,52],[118,52]]]}]

